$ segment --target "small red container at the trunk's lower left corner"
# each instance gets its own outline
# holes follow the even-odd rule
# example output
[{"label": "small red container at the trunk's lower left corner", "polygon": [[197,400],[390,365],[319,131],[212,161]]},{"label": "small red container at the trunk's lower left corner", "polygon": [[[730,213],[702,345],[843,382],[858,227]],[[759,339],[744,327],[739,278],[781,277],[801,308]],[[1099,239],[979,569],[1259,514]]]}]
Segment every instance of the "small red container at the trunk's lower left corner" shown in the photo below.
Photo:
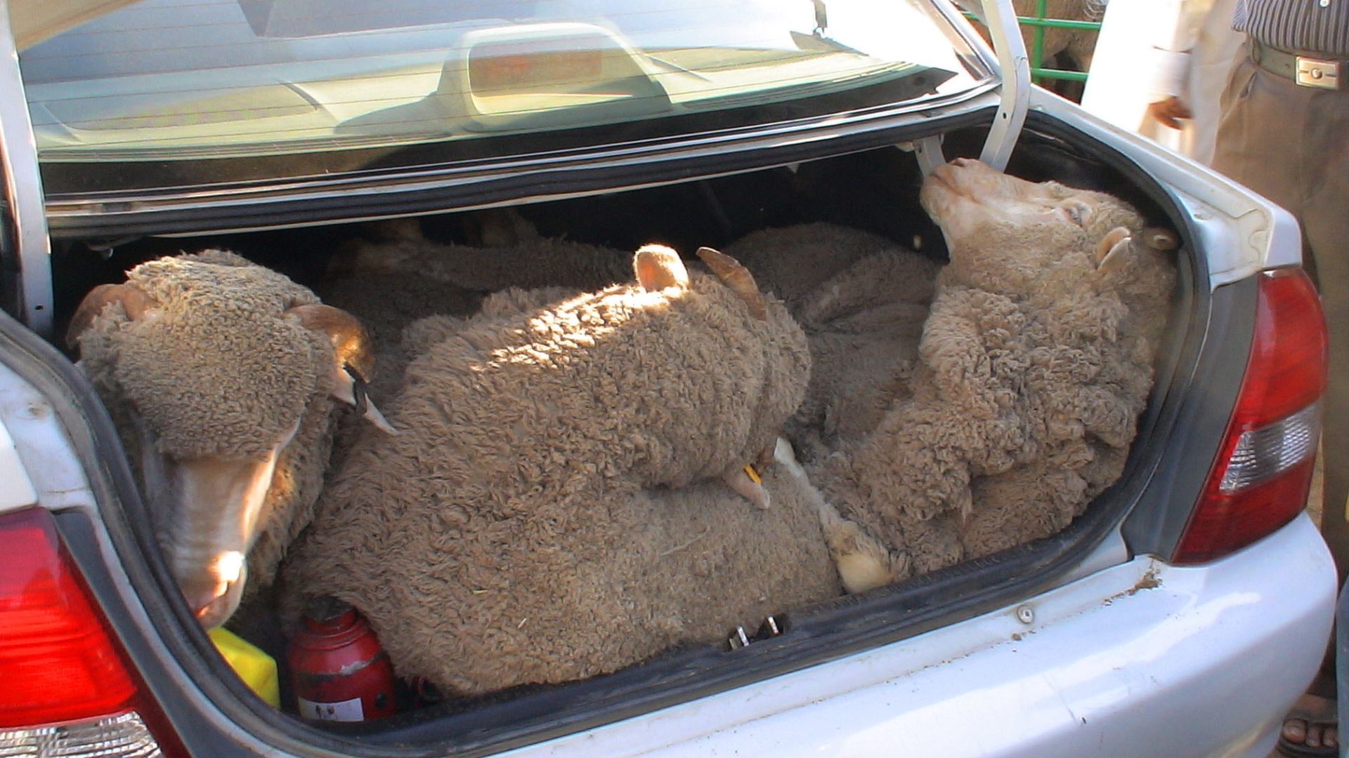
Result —
[{"label": "small red container at the trunk's lower left corner", "polygon": [[305,608],[286,651],[295,704],[306,719],[368,722],[397,711],[394,666],[355,608],[324,599]]}]

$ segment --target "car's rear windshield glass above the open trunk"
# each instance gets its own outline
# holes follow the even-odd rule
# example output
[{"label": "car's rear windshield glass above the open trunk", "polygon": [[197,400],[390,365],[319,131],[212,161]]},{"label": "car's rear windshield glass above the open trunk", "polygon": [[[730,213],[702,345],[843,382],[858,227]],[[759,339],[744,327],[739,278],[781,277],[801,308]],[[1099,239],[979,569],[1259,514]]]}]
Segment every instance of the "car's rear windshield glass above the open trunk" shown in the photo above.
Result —
[{"label": "car's rear windshield glass above the open trunk", "polygon": [[754,127],[989,76],[929,0],[146,0],[20,65],[55,194]]}]

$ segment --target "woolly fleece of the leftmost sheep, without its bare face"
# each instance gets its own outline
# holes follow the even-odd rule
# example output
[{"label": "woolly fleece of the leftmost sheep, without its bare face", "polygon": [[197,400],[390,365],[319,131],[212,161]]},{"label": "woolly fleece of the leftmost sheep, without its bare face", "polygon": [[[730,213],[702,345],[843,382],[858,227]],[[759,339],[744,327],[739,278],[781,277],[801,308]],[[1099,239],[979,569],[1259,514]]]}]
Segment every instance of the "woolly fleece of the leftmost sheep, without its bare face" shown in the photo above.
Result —
[{"label": "woolly fleece of the leftmost sheep, without its bare face", "polygon": [[[132,321],[120,305],[108,306],[78,340],[81,366],[138,472],[132,409],[161,452],[178,459],[260,456],[299,422],[248,552],[252,593],[271,583],[286,545],[308,523],[328,463],[333,348],[325,334],[282,318],[318,298],[224,251],[142,263],[127,282],[158,301],[156,314]],[[155,517],[163,542],[167,514]]]}]

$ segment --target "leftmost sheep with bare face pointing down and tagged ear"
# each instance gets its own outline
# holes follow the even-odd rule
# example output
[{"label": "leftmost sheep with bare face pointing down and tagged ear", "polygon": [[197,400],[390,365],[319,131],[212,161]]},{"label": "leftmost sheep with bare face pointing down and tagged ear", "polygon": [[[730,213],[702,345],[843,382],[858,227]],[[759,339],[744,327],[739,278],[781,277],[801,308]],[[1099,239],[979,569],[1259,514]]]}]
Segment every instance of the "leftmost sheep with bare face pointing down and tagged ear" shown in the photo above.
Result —
[{"label": "leftmost sheep with bare face pointing down and tagged ear", "polygon": [[[333,401],[370,401],[349,314],[225,251],[136,266],[85,295],[67,344],[138,469],[170,572],[201,624],[267,587],[309,521]],[[247,560],[246,560],[247,556]],[[247,561],[247,562],[246,562]]]}]

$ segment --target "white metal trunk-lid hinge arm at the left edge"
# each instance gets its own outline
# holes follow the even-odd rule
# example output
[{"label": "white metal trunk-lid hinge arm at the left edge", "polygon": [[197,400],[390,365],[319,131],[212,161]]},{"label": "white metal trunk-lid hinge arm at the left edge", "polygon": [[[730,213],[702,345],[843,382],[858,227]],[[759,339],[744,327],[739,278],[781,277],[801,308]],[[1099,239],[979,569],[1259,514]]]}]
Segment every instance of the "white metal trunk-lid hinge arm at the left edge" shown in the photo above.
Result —
[{"label": "white metal trunk-lid hinge arm at the left edge", "polygon": [[5,0],[0,0],[0,163],[9,237],[19,263],[20,310],[15,317],[42,337],[51,337],[51,239],[36,139]]}]

